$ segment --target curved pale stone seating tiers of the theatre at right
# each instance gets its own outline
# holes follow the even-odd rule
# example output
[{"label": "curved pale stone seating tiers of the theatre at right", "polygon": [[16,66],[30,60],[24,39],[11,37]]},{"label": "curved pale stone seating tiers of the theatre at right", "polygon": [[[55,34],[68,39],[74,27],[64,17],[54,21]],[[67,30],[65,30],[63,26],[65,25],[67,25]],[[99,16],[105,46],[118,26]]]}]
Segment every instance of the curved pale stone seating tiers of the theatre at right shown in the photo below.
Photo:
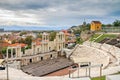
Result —
[{"label": "curved pale stone seating tiers of the theatre at right", "polygon": [[[86,41],[83,45],[76,45],[68,56],[74,63],[102,64],[102,75],[120,71],[120,48],[114,45]],[[99,76],[99,73],[99,68],[92,68],[91,76]],[[80,75],[84,76],[84,74],[85,70],[80,70]],[[78,75],[78,72],[74,72],[74,75]]]}]

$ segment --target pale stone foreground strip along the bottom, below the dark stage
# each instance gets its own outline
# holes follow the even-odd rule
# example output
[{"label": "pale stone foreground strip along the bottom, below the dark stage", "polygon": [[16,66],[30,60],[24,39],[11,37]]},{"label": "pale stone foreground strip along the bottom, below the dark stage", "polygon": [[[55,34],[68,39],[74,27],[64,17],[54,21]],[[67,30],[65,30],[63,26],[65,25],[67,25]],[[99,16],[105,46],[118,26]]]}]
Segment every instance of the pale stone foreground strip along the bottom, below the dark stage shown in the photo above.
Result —
[{"label": "pale stone foreground strip along the bottom, below the dark stage", "polygon": [[[67,76],[54,76],[54,77],[35,77],[25,74],[21,70],[9,68],[10,80],[90,80],[90,78],[69,78]],[[6,70],[0,71],[0,80],[6,80]]]}]

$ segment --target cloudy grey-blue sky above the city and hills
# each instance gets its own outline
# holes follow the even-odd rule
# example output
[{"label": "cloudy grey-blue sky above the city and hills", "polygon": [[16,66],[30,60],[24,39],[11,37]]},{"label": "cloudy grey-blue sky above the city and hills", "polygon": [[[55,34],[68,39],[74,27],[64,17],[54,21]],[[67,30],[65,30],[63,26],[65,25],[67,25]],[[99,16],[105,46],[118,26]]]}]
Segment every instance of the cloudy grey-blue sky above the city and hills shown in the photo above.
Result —
[{"label": "cloudy grey-blue sky above the city and hills", "polygon": [[120,0],[0,0],[0,25],[71,27],[120,19]]}]

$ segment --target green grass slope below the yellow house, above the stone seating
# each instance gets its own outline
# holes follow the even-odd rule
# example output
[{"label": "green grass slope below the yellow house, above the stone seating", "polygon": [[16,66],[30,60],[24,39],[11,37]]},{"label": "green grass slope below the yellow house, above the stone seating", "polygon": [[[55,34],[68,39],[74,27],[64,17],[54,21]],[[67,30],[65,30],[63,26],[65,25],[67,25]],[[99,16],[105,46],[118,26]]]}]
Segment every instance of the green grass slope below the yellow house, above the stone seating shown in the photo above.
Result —
[{"label": "green grass slope below the yellow house, above the stone seating", "polygon": [[[90,38],[90,41],[94,41],[95,38],[97,38],[98,36],[100,36],[100,34],[94,34],[91,38]],[[117,35],[115,34],[103,34],[101,37],[99,37],[97,40],[95,40],[95,42],[100,42],[102,41],[103,39],[105,38],[110,38],[110,39],[113,39],[113,38],[116,38]]]}]

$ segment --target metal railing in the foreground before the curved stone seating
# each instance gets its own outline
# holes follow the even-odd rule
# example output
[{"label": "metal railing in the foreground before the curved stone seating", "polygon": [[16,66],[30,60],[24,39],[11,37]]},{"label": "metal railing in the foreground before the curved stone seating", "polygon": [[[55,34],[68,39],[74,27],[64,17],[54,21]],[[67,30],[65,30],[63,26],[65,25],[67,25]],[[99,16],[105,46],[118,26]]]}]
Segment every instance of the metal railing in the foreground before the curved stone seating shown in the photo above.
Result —
[{"label": "metal railing in the foreground before the curved stone seating", "polygon": [[[99,77],[101,80],[102,76],[102,66],[103,64],[99,65],[91,65],[90,62],[80,62],[77,63],[78,65],[72,65],[69,69],[69,78],[81,78],[81,77],[90,77],[91,78],[91,68],[99,68]],[[85,76],[80,76],[80,69],[85,69]],[[74,71],[77,72],[77,75],[74,76]]]}]

